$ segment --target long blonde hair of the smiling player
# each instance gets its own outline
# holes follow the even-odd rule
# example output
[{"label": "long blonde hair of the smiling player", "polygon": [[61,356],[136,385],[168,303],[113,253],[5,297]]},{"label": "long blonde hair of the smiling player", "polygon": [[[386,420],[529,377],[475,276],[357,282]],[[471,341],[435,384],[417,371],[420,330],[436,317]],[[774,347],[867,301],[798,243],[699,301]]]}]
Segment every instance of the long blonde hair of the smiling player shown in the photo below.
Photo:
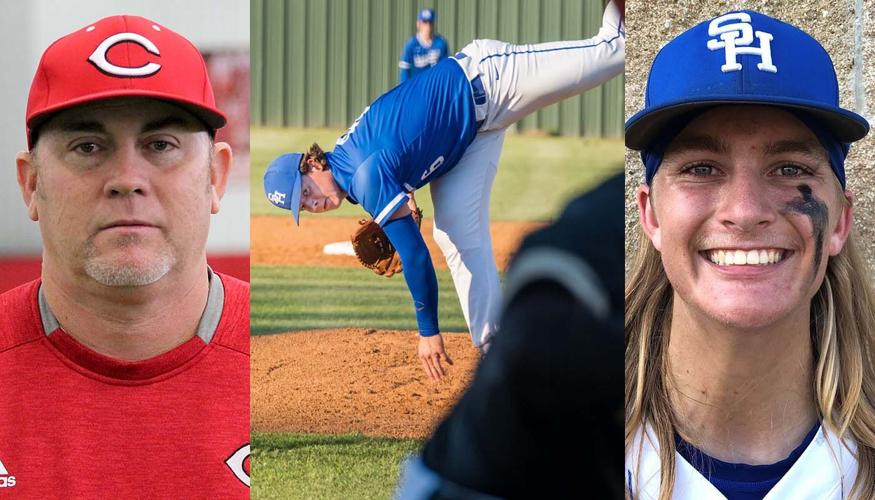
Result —
[{"label": "long blonde hair of the smiling player", "polygon": [[[639,225],[638,251],[626,278],[627,452],[649,424],[659,442],[660,500],[671,498],[675,477],[676,416],[668,392],[667,353],[673,291],[659,252]],[[851,496],[875,498],[875,294],[852,231],[831,257],[811,300],[816,357],[816,405],[822,425],[857,444],[859,468]],[[629,492],[627,491],[627,497]]]}]

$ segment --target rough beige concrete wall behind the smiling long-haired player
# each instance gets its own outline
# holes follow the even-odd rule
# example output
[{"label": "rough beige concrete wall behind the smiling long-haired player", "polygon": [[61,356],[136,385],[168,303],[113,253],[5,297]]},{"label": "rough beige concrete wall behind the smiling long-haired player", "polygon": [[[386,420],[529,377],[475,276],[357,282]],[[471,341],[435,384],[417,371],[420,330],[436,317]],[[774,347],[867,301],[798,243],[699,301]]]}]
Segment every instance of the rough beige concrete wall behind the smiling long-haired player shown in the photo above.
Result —
[{"label": "rough beige concrete wall behind the smiling long-haired player", "polygon": [[[627,0],[626,119],[644,106],[647,72],[669,40],[722,13],[751,9],[802,28],[829,52],[841,105],[875,124],[875,0]],[[855,195],[854,224],[869,267],[875,270],[875,131],[851,147],[845,163]],[[638,245],[635,190],[644,167],[626,151],[626,255]]]}]

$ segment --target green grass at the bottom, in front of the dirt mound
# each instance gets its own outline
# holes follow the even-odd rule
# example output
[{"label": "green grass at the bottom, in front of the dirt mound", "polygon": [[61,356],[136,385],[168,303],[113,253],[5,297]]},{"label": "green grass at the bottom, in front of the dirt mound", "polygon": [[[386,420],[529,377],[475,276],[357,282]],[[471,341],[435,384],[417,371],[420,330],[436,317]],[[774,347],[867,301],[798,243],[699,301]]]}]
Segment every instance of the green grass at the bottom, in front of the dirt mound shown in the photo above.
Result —
[{"label": "green grass at the bottom, in front of the dirt mound", "polygon": [[388,499],[421,441],[252,433],[252,498]]}]

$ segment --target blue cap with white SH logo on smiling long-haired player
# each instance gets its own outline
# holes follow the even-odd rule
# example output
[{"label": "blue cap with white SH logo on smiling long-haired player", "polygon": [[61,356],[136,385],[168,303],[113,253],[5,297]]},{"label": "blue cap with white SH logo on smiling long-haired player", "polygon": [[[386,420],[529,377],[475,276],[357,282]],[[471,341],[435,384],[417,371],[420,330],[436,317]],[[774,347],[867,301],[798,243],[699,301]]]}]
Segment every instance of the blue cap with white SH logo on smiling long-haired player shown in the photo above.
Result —
[{"label": "blue cap with white SH logo on smiling long-haired player", "polygon": [[869,131],[865,118],[839,106],[835,69],[817,40],[759,12],[729,12],[678,35],[653,60],[644,109],[625,126],[626,146],[644,151],[648,183],[671,139],[702,110],[722,104],[793,112],[826,142],[842,185],[848,143]]}]

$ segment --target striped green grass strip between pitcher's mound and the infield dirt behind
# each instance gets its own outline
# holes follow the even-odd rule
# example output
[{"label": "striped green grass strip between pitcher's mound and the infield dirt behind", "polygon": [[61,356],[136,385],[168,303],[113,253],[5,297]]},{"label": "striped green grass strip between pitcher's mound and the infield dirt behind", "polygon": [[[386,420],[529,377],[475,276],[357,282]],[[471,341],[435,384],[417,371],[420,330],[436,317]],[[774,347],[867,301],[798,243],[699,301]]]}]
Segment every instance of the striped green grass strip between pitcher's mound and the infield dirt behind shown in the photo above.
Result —
[{"label": "striped green grass strip between pitcher's mound and the infield dirt behind", "polygon": [[[441,330],[468,331],[449,271],[438,270]],[[416,330],[410,292],[401,276],[364,268],[252,266],[253,335],[335,327]]]}]

